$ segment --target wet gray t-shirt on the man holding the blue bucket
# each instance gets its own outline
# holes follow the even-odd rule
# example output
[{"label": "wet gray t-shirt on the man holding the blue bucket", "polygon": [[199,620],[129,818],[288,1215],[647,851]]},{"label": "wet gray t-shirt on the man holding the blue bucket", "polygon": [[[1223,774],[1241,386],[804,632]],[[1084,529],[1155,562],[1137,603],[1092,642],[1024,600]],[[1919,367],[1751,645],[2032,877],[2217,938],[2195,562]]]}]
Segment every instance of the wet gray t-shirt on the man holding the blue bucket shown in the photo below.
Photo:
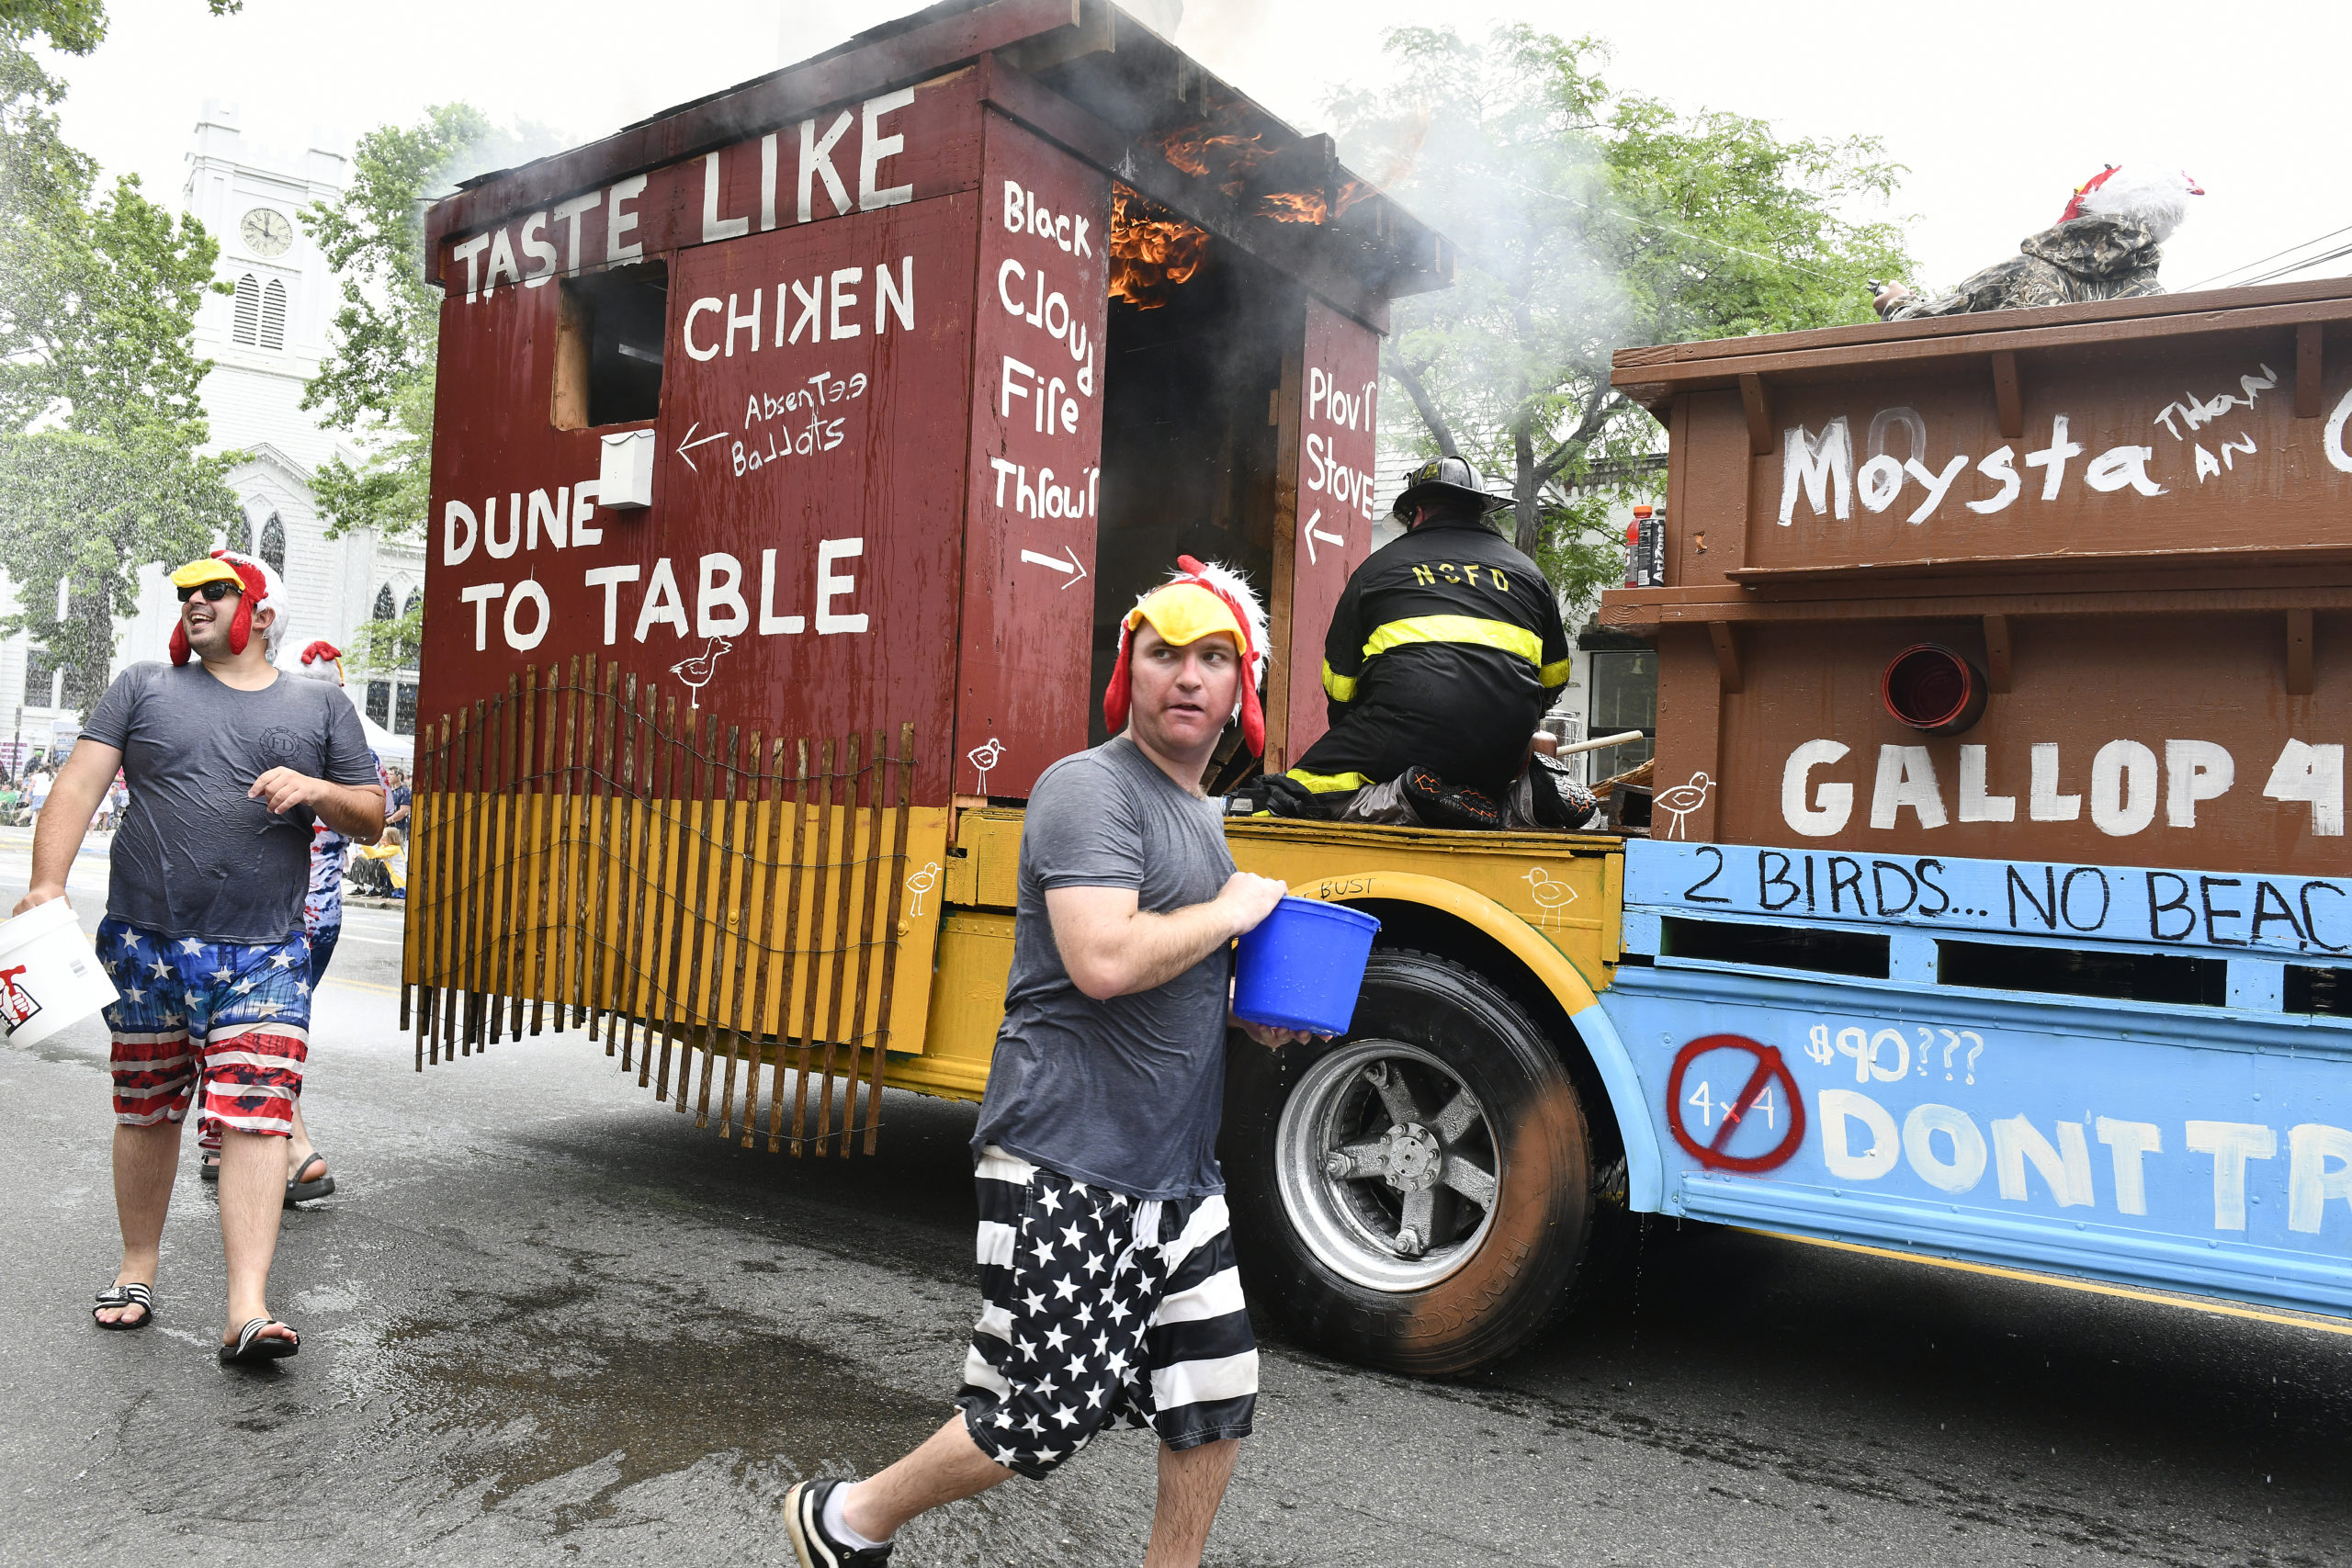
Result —
[{"label": "wet gray t-shirt on the man holding the blue bucket", "polygon": [[1216,1124],[1232,952],[1157,990],[1094,1001],[1061,966],[1044,896],[1136,889],[1141,910],[1167,914],[1209,903],[1228,877],[1218,802],[1188,795],[1134,741],[1044,771],[1021,825],[1014,969],[974,1150],[995,1143],[1138,1199],[1225,1190]]}]

